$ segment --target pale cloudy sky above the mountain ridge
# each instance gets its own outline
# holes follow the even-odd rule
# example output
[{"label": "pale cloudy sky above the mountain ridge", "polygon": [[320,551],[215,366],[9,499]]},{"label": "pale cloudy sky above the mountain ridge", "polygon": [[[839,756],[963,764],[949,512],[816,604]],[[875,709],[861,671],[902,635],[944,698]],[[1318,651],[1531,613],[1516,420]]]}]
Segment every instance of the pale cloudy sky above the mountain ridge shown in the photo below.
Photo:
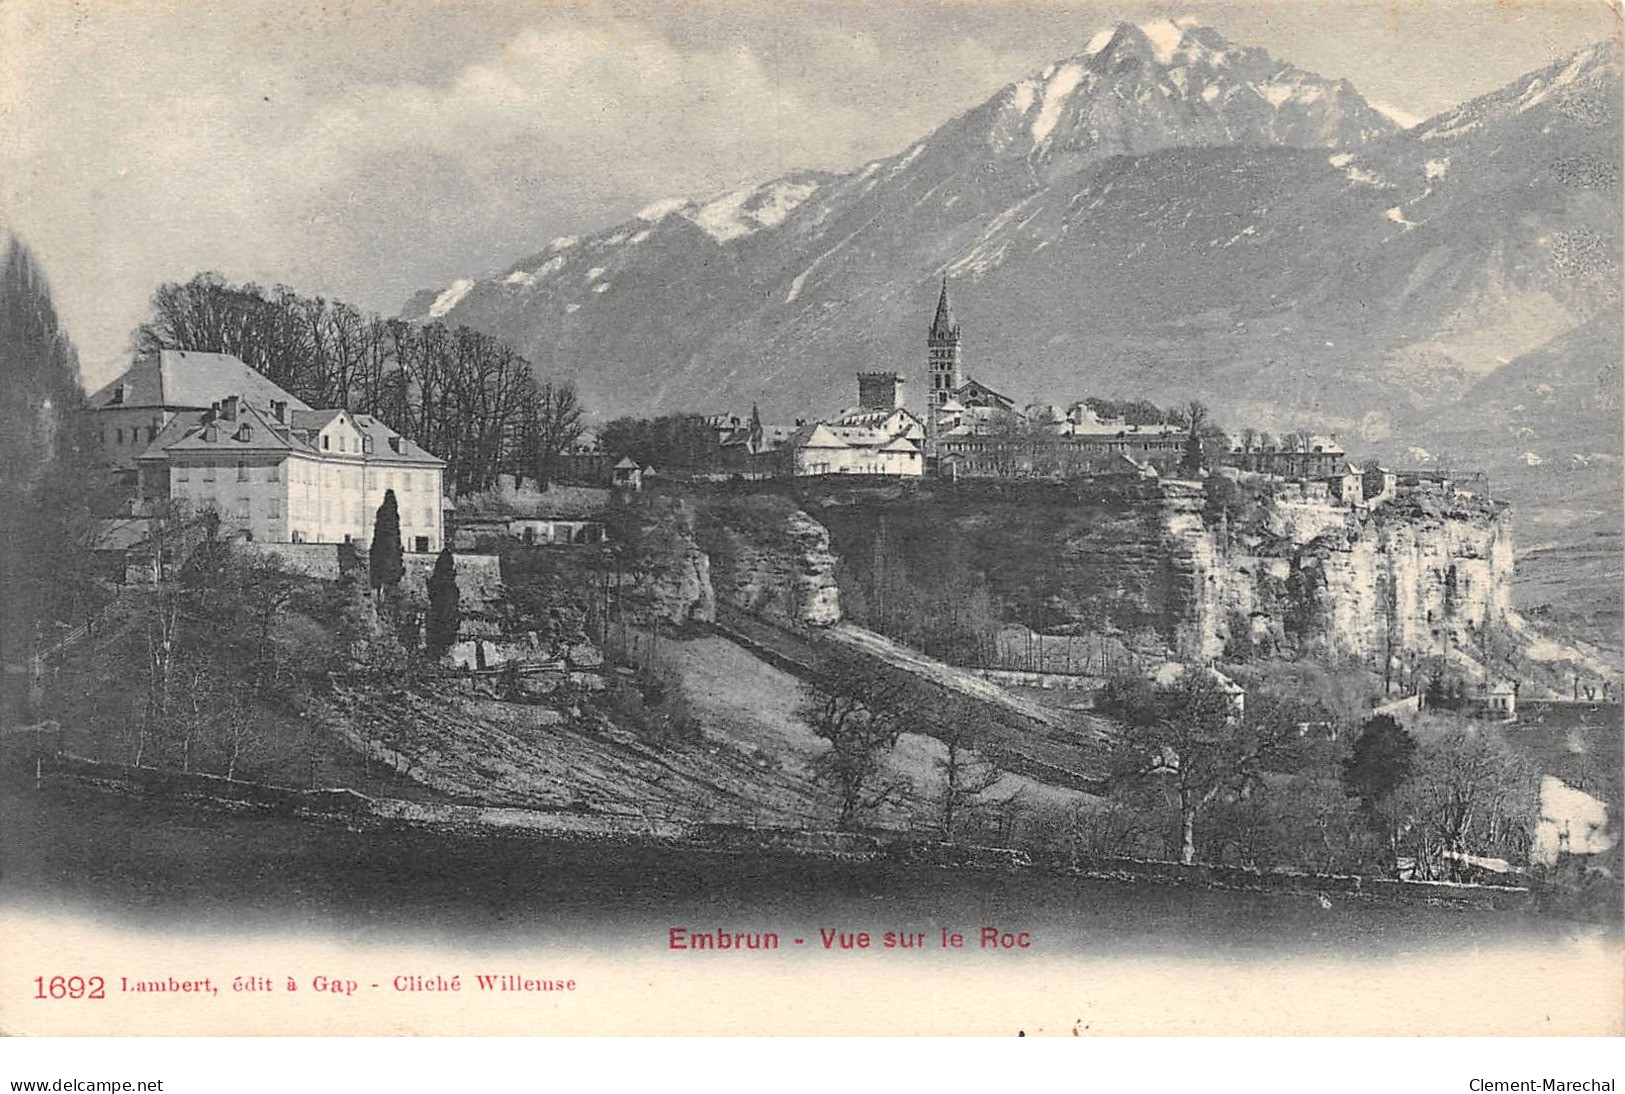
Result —
[{"label": "pale cloudy sky above the mountain ridge", "polygon": [[0,0],[0,229],[94,387],[164,281],[395,314],[660,198],[892,154],[1162,16],[1415,119],[1618,34],[1607,0]]}]

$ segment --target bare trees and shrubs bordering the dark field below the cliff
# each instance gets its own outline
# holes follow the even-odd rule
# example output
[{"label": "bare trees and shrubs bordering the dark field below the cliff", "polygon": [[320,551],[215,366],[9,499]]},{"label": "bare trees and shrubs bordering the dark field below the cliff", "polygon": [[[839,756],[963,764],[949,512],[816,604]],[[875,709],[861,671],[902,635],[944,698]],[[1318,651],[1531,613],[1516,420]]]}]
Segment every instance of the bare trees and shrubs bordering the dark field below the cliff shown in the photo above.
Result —
[{"label": "bare trees and shrubs bordering the dark field below the cliff", "polygon": [[[999,727],[988,710],[853,653],[826,652],[800,710],[827,743],[814,774],[835,823],[860,829],[910,798],[930,803],[942,839],[1001,839],[1050,860],[1089,855],[1183,863],[1295,866],[1456,879],[1479,862],[1528,860],[1536,777],[1505,745],[1472,730],[1419,743],[1389,715],[1358,723],[1297,694],[1258,691],[1242,704],[1216,676],[1168,683],[1128,673],[1097,696],[1116,732],[1100,798],[1058,829],[1001,785],[990,762]],[[923,782],[889,758],[907,733],[938,738]],[[1025,821],[1019,818],[1022,814]]]}]

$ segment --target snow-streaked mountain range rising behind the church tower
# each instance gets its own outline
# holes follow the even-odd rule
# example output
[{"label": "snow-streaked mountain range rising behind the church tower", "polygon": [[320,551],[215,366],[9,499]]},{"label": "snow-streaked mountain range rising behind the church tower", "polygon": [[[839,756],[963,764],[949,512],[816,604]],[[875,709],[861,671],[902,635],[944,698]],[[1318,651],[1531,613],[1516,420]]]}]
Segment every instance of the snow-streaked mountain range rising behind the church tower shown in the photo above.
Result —
[{"label": "snow-streaked mountain range rising behind the church tower", "polygon": [[920,377],[946,270],[967,367],[1019,402],[1194,395],[1433,449],[1531,354],[1575,377],[1563,421],[1617,398],[1607,336],[1545,349],[1618,323],[1618,88],[1602,42],[1401,130],[1209,28],[1120,24],[895,156],[663,202],[405,314],[507,338],[598,415],[790,416]]}]

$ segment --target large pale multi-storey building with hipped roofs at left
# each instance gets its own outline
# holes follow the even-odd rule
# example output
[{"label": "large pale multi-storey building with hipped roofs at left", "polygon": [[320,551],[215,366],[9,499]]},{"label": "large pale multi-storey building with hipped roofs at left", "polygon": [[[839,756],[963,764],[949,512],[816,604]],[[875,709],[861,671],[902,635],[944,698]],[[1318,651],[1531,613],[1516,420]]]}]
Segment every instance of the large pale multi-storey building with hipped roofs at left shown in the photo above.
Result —
[{"label": "large pale multi-storey building with hipped roofs at left", "polygon": [[96,392],[107,465],[140,502],[213,507],[262,543],[364,543],[387,491],[401,545],[439,551],[445,462],[377,418],[312,410],[226,354],[164,351]]}]

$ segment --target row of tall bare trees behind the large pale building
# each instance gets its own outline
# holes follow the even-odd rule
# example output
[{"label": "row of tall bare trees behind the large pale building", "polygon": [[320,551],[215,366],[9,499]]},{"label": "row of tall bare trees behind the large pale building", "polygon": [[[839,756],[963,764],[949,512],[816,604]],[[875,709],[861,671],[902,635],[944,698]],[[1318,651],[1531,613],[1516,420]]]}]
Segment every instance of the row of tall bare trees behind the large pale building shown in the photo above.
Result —
[{"label": "row of tall bare trees behind the large pale building", "polygon": [[218,273],[161,286],[136,351],[229,353],[317,408],[372,415],[447,462],[458,493],[497,475],[552,481],[580,437],[570,380],[468,327],[410,323],[288,286],[231,284]]}]

